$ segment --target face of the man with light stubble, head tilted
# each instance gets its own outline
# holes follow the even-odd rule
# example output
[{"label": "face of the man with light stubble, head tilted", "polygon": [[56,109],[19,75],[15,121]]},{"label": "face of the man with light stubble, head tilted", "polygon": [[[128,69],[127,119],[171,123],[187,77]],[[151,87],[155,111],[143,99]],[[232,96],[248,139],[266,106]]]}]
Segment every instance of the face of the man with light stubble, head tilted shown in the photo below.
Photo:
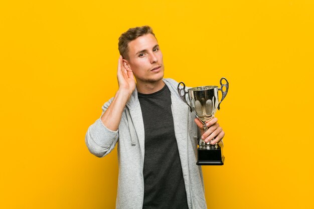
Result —
[{"label": "face of the man with light stubble, head tilted", "polygon": [[156,82],[164,77],[163,54],[151,34],[140,36],[128,43],[126,69],[132,70],[137,83]]}]

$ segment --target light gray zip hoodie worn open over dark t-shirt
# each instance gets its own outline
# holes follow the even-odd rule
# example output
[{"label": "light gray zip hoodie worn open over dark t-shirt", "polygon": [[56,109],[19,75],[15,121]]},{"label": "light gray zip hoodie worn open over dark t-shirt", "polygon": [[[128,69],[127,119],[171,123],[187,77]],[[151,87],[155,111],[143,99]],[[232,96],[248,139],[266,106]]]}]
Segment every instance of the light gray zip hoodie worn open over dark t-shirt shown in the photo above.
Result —
[{"label": "light gray zip hoodie worn open over dark t-shirt", "polygon": [[[196,165],[198,128],[195,116],[180,99],[178,82],[173,79],[164,79],[164,82],[171,92],[175,135],[189,209],[205,209],[202,169]],[[103,105],[102,114],[112,100]],[[124,108],[118,130],[108,129],[99,118],[88,128],[85,142],[89,151],[97,157],[107,155],[117,144],[119,176],[116,208],[141,209],[144,197],[144,124],[136,88]]]}]

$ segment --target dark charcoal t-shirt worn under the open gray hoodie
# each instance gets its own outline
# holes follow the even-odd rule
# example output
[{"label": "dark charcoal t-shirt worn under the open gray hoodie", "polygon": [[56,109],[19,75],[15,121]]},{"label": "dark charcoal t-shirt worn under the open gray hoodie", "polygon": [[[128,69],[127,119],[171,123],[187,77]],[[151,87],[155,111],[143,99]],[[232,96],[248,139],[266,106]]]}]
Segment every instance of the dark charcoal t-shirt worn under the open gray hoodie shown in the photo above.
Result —
[{"label": "dark charcoal t-shirt worn under the open gray hoodie", "polygon": [[165,85],[152,94],[138,93],[138,99],[145,133],[143,208],[188,208],[170,91]]}]

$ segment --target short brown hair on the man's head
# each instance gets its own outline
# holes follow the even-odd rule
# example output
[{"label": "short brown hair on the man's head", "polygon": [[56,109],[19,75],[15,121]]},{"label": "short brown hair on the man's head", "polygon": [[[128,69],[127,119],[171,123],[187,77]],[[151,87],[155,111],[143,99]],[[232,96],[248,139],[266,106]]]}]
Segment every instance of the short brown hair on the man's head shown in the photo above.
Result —
[{"label": "short brown hair on the man's head", "polygon": [[129,30],[121,34],[119,38],[118,49],[123,59],[129,58],[128,57],[128,43],[146,34],[152,34],[153,36],[155,36],[152,33],[152,29],[149,26],[130,28]]}]

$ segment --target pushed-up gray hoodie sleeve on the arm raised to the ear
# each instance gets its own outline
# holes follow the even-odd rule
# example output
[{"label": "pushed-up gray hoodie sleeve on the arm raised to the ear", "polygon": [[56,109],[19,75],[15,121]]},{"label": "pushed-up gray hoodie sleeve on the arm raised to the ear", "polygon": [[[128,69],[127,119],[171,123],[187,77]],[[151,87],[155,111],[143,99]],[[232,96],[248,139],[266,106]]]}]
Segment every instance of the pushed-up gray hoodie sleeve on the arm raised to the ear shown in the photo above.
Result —
[{"label": "pushed-up gray hoodie sleeve on the arm raised to the ear", "polygon": [[[107,110],[113,98],[102,106],[102,114]],[[100,118],[101,118],[100,116]],[[113,150],[118,141],[118,130],[108,129],[98,118],[95,123],[89,126],[85,135],[85,143],[88,150],[97,157],[103,157]]]}]

